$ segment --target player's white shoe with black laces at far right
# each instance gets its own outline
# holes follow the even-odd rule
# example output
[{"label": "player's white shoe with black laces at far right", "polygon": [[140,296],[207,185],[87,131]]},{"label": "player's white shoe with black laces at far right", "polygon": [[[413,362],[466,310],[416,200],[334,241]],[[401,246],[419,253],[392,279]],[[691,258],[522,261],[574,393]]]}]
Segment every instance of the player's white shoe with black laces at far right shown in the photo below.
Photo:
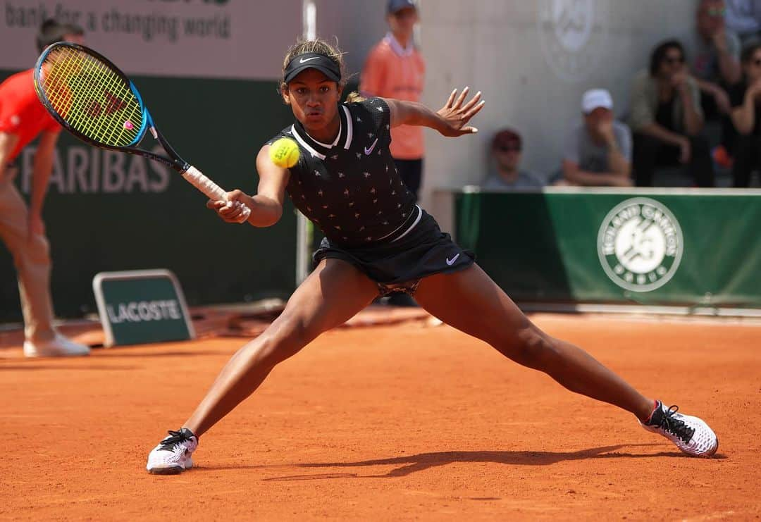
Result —
[{"label": "player's white shoe with black laces at far right", "polygon": [[679,406],[656,403],[648,422],[640,422],[642,428],[663,435],[677,447],[693,457],[711,457],[718,449],[718,437],[698,417],[677,413]]}]

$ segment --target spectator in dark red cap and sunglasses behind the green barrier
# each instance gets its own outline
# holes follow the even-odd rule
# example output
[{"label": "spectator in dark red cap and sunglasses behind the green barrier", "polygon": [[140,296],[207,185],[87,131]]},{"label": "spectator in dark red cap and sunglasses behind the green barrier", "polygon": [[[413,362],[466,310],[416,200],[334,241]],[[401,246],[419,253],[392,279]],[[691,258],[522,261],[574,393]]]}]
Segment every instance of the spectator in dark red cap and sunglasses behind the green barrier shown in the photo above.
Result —
[{"label": "spectator in dark red cap and sunglasses behind the green barrier", "polygon": [[542,178],[528,170],[521,170],[521,135],[512,129],[503,129],[492,140],[489,173],[482,188],[492,190],[540,189]]}]

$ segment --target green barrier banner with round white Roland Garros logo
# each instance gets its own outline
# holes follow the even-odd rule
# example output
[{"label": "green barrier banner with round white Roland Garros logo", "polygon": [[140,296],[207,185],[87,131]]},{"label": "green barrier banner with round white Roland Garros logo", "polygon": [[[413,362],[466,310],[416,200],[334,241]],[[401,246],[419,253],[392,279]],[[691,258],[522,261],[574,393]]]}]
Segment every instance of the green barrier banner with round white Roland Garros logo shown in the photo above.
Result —
[{"label": "green barrier banner with round white Roland Garros logo", "polygon": [[761,192],[457,193],[457,240],[517,301],[761,307]]}]

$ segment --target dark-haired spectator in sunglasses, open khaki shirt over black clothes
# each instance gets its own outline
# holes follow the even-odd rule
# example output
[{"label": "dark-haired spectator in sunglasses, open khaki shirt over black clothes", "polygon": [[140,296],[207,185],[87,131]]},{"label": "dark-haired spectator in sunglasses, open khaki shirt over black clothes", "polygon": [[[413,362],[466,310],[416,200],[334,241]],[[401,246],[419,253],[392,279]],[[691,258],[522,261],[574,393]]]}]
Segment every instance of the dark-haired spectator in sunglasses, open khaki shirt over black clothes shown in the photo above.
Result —
[{"label": "dark-haired spectator in sunglasses, open khaki shirt over black clothes", "polygon": [[681,43],[668,40],[651,54],[648,71],[632,81],[633,167],[637,186],[652,186],[656,166],[683,164],[697,186],[714,186],[708,140],[702,135],[700,91],[685,67]]}]

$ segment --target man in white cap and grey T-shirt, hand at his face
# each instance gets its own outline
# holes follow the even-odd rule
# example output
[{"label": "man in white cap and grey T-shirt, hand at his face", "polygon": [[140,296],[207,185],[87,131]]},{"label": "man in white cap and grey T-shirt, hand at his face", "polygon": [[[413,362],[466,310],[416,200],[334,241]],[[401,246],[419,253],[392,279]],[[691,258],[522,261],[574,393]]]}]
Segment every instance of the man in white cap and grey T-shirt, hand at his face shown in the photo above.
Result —
[{"label": "man in white cap and grey T-shirt, hand at his face", "polygon": [[605,89],[581,97],[584,121],[565,139],[565,185],[632,186],[632,132],[613,119],[613,98]]}]

